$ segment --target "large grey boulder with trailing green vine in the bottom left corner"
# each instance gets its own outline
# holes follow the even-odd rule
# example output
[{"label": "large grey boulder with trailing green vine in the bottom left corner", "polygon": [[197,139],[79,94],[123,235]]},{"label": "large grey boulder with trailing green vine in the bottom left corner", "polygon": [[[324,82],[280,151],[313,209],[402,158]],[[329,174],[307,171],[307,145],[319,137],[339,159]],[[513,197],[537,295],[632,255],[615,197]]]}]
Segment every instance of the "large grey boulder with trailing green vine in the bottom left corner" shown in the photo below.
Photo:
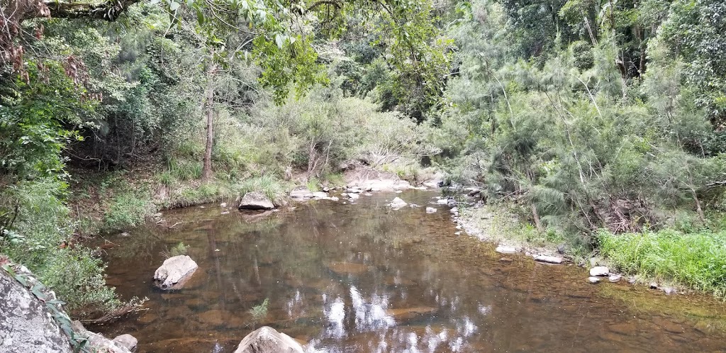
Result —
[{"label": "large grey boulder with trailing green vine in the bottom left corner", "polygon": [[[23,267],[15,267],[15,271],[29,273]],[[52,292],[48,294],[54,299]],[[73,352],[46,304],[4,269],[0,269],[0,352]]]}]

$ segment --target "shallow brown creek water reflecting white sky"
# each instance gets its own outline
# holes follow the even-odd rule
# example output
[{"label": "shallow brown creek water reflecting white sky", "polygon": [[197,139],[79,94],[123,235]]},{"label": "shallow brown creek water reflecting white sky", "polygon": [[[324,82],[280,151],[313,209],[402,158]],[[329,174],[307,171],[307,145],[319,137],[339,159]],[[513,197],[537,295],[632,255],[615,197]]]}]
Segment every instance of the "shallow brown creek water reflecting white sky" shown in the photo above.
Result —
[{"label": "shallow brown creek water reflecting white sky", "polygon": [[[726,307],[709,296],[587,283],[574,265],[502,256],[457,232],[436,192],[310,201],[268,215],[216,205],[166,211],[107,241],[107,282],[148,308],[109,325],[140,352],[232,352],[269,325],[310,352],[719,352]],[[420,208],[393,211],[399,196]],[[161,251],[183,241],[197,269],[173,292],[152,285]],[[269,299],[266,317],[249,310]]]}]

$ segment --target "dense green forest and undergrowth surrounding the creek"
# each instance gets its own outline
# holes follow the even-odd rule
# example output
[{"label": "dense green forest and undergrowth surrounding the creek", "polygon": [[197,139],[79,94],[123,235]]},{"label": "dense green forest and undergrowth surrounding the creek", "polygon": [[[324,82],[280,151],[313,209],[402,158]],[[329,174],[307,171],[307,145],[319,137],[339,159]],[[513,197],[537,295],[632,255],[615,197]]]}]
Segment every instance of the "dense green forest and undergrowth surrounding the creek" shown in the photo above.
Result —
[{"label": "dense green forest and undergrowth surrounding the creek", "polygon": [[[726,296],[720,0],[2,0],[0,253],[123,309],[99,232],[351,168],[477,187]],[[579,254],[579,255],[578,255]]]}]

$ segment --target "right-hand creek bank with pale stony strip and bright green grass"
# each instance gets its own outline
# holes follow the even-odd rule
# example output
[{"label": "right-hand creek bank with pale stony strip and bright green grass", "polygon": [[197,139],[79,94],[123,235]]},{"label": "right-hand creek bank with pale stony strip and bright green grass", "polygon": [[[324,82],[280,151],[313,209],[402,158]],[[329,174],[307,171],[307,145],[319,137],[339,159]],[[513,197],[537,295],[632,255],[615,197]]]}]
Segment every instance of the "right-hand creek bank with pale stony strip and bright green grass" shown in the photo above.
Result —
[{"label": "right-hand creek bank with pale stony strip and bright green grass", "polygon": [[714,215],[709,227],[690,232],[669,227],[616,235],[600,230],[591,235],[593,249],[579,236],[551,228],[539,232],[523,220],[526,210],[519,206],[460,204],[458,208],[460,215],[454,217],[454,222],[503,252],[561,256],[581,267],[608,267],[632,283],[666,294],[701,291],[726,298],[726,232],[719,221],[722,215]]}]

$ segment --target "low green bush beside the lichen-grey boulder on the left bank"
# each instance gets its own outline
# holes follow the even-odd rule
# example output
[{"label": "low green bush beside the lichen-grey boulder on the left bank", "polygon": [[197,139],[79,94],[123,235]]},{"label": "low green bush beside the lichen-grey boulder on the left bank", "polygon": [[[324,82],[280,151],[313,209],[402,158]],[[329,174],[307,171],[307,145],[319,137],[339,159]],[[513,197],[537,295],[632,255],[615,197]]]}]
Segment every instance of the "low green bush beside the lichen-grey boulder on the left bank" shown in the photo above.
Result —
[{"label": "low green bush beside the lichen-grey boulder on the left bank", "polygon": [[69,244],[76,224],[62,202],[64,191],[65,183],[40,179],[0,192],[4,203],[18,206],[15,223],[0,237],[0,253],[28,267],[76,317],[118,309],[123,303],[105,285],[102,261],[91,249]]}]

